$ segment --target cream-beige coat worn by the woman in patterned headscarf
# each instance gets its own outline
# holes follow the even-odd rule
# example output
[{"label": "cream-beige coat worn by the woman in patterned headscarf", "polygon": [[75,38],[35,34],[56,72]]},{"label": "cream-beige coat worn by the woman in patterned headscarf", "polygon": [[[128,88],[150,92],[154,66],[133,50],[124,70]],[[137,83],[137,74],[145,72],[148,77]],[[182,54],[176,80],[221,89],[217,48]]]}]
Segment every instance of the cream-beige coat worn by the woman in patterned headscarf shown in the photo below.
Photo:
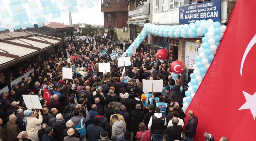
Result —
[{"label": "cream-beige coat worn by the woman in patterned headscarf", "polygon": [[37,136],[38,130],[41,129],[41,123],[43,122],[43,116],[39,115],[38,119],[36,117],[28,117],[27,119],[27,133],[28,139],[32,141],[39,141]]}]

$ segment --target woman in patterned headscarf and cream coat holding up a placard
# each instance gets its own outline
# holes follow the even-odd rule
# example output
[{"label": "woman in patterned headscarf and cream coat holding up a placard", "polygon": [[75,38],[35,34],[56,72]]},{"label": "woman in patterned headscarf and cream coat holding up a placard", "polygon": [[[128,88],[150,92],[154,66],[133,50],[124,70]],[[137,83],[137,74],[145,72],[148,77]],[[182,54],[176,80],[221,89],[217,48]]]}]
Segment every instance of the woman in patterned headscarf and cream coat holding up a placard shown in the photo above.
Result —
[{"label": "woman in patterned headscarf and cream coat holding up a placard", "polygon": [[41,115],[41,111],[38,112],[38,119],[34,117],[34,112],[32,110],[24,111],[24,119],[23,124],[26,125],[28,132],[28,139],[32,141],[39,141],[37,136],[38,130],[41,129],[41,123],[43,122],[43,116]]}]

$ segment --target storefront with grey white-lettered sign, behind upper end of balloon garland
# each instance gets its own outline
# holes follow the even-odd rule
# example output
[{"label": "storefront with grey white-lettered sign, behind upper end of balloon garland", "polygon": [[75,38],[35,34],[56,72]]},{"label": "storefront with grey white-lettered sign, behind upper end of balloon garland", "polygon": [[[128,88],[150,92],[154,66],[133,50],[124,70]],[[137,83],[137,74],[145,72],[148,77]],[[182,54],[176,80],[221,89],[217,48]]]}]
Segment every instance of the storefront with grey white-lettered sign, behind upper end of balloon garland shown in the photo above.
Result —
[{"label": "storefront with grey white-lettered sign, behind upper end of balloon garland", "polygon": [[131,9],[128,11],[127,24],[130,29],[130,40],[134,40],[143,29],[143,25],[149,22],[149,4]]}]

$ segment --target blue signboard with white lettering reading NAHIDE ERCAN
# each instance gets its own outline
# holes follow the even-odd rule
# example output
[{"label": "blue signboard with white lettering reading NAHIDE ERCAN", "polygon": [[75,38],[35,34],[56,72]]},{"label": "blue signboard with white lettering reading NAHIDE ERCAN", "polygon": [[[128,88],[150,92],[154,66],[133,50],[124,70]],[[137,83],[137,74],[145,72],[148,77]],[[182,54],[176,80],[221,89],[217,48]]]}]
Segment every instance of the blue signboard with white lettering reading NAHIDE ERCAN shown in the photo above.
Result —
[{"label": "blue signboard with white lettering reading NAHIDE ERCAN", "polygon": [[189,24],[208,19],[214,22],[221,22],[221,0],[211,0],[179,7],[180,24]]}]

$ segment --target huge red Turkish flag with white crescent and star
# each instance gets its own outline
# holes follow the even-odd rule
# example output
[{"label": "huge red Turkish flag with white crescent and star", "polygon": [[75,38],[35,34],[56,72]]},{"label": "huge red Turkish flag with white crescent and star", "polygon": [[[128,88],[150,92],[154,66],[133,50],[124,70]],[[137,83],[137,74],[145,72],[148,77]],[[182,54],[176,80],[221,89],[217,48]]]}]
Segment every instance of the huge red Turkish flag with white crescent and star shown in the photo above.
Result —
[{"label": "huge red Turkish flag with white crescent and star", "polygon": [[256,0],[237,0],[215,58],[187,108],[198,117],[196,141],[204,141],[204,132],[216,140],[256,140],[255,9]]}]

